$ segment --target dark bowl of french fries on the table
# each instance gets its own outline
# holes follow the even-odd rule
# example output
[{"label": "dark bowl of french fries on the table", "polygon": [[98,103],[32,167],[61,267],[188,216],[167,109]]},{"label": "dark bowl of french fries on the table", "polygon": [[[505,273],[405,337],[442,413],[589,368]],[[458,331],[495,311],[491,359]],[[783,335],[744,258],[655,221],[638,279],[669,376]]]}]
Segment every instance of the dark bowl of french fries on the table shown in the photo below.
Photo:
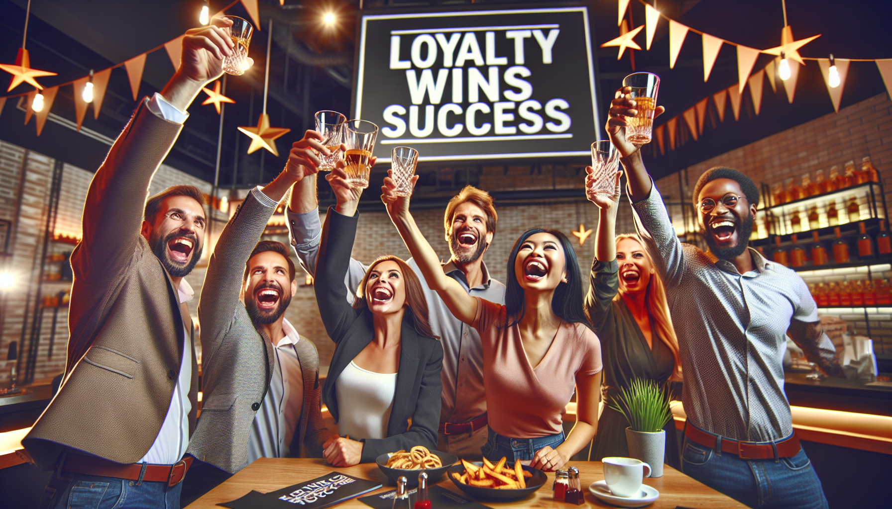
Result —
[{"label": "dark bowl of french fries on the table", "polygon": [[521,464],[510,466],[507,458],[497,463],[483,458],[482,462],[461,460],[450,467],[448,476],[452,482],[468,495],[480,498],[514,499],[523,498],[542,487],[548,476],[541,470]]}]

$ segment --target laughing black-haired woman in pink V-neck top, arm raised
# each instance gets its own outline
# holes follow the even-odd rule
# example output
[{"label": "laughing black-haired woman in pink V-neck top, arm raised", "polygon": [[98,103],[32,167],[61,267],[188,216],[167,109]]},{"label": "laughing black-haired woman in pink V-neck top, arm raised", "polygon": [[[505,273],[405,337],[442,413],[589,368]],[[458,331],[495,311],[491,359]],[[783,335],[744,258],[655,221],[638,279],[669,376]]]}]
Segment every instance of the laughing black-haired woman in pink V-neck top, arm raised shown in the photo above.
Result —
[{"label": "laughing black-haired woman in pink V-neck top, arm raised", "polygon": [[[483,456],[557,470],[595,436],[601,388],[600,343],[582,311],[573,246],[557,230],[521,235],[508,257],[501,306],[468,295],[443,274],[440,258],[409,214],[409,198],[394,190],[392,178],[385,178],[382,199],[428,286],[454,316],[480,332],[490,427]],[[565,439],[561,414],[574,389],[576,424]]]}]

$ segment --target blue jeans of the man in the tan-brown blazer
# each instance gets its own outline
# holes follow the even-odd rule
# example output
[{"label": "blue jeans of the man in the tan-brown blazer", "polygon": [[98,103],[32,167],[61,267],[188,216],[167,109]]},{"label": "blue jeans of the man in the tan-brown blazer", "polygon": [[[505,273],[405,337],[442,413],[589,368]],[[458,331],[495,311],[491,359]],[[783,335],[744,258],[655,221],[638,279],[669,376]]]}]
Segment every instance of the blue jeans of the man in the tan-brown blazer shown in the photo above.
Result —
[{"label": "blue jeans of the man in the tan-brown blazer", "polygon": [[179,509],[183,483],[54,472],[40,501],[41,509]]}]

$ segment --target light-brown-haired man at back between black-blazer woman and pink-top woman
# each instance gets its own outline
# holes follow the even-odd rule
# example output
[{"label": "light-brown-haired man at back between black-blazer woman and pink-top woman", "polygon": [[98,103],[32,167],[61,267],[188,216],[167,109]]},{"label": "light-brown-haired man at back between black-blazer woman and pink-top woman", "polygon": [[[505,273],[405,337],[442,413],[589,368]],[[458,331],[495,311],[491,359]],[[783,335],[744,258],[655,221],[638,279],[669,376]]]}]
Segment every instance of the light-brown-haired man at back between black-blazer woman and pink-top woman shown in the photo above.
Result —
[{"label": "light-brown-haired man at back between black-blazer woman and pink-top woman", "polygon": [[[312,178],[311,178],[312,177]],[[316,198],[315,176],[294,185],[288,203],[288,231],[301,266],[312,275],[322,237]],[[361,190],[355,192],[350,209],[355,214]],[[338,212],[334,212],[337,214]],[[505,285],[492,279],[483,253],[492,242],[498,216],[492,198],[473,186],[466,186],[446,206],[444,227],[451,258],[443,272],[455,278],[471,295],[505,303]],[[440,296],[425,283],[415,261],[407,260],[418,275],[425,291],[431,328],[440,336],[443,347],[442,410],[437,448],[466,459],[480,459],[480,447],[486,443],[486,396],[483,391],[483,351],[480,335],[452,316]],[[352,300],[366,266],[351,259],[344,284]]]}]

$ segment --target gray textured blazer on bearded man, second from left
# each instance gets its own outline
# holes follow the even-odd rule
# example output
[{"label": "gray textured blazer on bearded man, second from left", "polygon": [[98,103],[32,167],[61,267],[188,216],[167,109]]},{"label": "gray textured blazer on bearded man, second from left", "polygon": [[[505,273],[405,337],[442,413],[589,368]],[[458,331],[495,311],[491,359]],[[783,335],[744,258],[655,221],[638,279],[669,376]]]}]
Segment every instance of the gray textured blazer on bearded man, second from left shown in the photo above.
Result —
[{"label": "gray textured blazer on bearded man, second from left", "polygon": [[[272,344],[254,328],[239,300],[245,263],[276,209],[275,203],[270,205],[268,198],[255,193],[248,193],[223,228],[198,304],[204,392],[202,415],[186,452],[230,473],[248,464],[251,425],[266,397],[274,365]],[[319,357],[305,338],[294,351],[303,374],[303,409],[292,455],[300,456],[304,445],[310,455],[321,457],[328,430],[319,411]]]}]

